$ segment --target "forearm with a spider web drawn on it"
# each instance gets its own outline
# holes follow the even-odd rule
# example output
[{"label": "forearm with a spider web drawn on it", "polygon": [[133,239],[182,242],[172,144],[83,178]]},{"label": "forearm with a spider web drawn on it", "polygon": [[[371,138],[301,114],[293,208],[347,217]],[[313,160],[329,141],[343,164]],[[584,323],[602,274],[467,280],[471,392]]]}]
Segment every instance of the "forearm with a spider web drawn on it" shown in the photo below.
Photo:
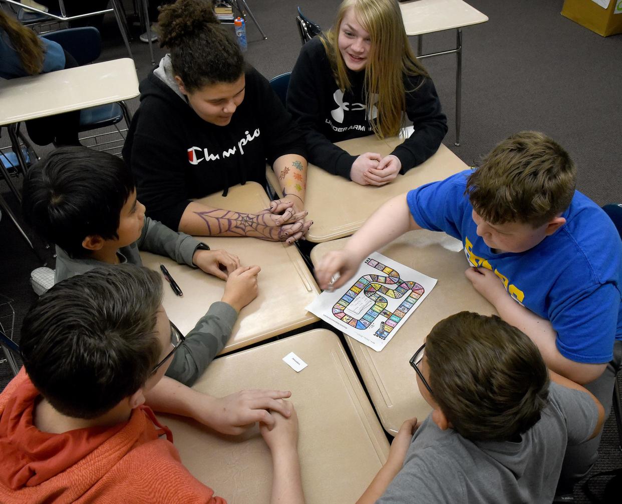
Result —
[{"label": "forearm with a spider web drawn on it", "polygon": [[192,201],[183,212],[179,230],[194,236],[253,236],[275,239],[274,227],[266,225],[266,214],[249,214],[213,208]]}]

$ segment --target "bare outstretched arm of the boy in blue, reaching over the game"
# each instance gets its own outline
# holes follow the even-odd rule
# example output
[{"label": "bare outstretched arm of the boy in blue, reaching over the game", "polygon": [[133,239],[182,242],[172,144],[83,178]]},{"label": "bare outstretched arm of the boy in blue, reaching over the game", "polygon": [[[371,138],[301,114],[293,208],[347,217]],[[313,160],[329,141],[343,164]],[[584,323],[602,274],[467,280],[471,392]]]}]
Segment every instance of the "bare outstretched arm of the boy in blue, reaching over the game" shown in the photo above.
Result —
[{"label": "bare outstretched arm of the boy in blue, reaching over the game", "polygon": [[[414,221],[406,202],[406,194],[396,196],[367,219],[346,242],[343,250],[330,252],[315,268],[315,276],[320,288],[325,289],[332,285],[337,288],[346,283],[358,269],[361,261],[374,250],[392,242],[407,231],[421,229]],[[334,283],[331,280],[339,273],[340,277]]]}]

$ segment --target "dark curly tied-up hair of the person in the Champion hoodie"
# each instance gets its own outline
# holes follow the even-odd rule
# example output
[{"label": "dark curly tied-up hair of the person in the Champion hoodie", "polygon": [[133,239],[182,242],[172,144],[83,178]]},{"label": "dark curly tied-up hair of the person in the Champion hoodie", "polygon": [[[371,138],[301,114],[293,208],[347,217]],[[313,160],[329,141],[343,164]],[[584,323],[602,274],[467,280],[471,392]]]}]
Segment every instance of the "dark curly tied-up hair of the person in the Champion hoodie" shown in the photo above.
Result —
[{"label": "dark curly tied-up hair of the person in the Champion hoodie", "polygon": [[244,57],[223,28],[211,1],[178,0],[162,7],[158,17],[160,47],[167,47],[173,70],[192,92],[243,75]]}]

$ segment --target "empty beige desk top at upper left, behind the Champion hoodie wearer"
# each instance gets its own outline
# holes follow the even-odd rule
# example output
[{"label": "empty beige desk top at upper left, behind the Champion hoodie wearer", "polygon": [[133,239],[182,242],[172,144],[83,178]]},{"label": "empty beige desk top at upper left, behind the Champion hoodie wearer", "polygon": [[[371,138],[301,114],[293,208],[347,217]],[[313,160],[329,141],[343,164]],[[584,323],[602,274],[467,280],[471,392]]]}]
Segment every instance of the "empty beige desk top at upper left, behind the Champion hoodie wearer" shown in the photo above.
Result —
[{"label": "empty beige desk top at upper left, behind the Champion hoodie wearer", "polygon": [[0,80],[0,125],[138,96],[134,60],[121,58]]}]

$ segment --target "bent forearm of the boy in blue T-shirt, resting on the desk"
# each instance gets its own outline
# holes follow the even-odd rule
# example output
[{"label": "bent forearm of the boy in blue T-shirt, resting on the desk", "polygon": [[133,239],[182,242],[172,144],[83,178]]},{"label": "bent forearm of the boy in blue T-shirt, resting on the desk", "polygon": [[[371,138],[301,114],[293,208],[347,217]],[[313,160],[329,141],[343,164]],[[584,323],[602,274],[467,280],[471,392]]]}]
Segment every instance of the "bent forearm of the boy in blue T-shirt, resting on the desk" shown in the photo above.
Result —
[{"label": "bent forearm of the boy in blue T-shirt, resting on the desk", "polygon": [[504,321],[529,336],[538,347],[547,367],[555,373],[583,384],[592,382],[605,370],[606,364],[574,362],[560,354],[555,344],[557,332],[550,321],[519,305],[510,296],[502,296],[493,305]]}]

